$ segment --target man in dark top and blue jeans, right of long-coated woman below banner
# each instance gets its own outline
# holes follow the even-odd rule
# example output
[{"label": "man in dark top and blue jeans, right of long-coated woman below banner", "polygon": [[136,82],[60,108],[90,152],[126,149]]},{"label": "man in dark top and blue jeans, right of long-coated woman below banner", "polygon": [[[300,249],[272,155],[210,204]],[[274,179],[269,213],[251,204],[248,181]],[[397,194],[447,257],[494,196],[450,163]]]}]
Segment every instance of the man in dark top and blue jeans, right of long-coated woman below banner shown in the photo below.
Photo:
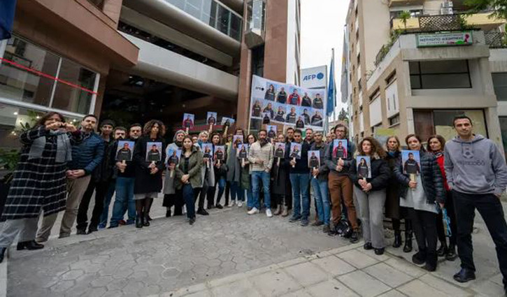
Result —
[{"label": "man in dark top and blue jeans, right of long-coated woman below banner", "polygon": [[[305,143],[301,137],[301,130],[294,130],[294,143],[301,144],[301,159],[294,161],[292,155],[295,153],[286,150],[285,164],[290,172],[290,184],[292,185],[293,213],[290,222],[301,220],[301,226],[308,226],[308,215],[310,215],[310,171],[308,170],[308,150],[310,145]],[[301,211],[301,205],[303,210]]]}]

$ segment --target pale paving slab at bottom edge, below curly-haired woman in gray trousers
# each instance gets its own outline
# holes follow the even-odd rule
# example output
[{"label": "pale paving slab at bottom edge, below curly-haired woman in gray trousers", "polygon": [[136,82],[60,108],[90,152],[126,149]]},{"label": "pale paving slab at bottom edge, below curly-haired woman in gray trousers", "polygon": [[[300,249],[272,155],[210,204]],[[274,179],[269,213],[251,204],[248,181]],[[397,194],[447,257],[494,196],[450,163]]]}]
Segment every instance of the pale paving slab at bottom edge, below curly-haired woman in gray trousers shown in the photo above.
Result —
[{"label": "pale paving slab at bottom edge, below curly-haired woman in gray trousers", "polygon": [[360,270],[341,275],[338,277],[338,280],[365,297],[377,296],[391,289],[383,282],[376,280]]}]

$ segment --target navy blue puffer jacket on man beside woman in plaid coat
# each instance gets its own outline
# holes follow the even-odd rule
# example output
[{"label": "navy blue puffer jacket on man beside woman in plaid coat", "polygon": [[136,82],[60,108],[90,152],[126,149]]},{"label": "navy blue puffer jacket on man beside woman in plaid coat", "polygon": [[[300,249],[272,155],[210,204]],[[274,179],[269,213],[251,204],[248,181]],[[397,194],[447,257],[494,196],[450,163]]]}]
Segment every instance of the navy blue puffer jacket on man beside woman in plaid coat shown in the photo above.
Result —
[{"label": "navy blue puffer jacket on man beside woman in plaid coat", "polygon": [[85,175],[90,175],[103,159],[104,140],[99,134],[92,131],[90,134],[83,133],[83,142],[72,146],[72,161],[69,169],[83,169]]}]

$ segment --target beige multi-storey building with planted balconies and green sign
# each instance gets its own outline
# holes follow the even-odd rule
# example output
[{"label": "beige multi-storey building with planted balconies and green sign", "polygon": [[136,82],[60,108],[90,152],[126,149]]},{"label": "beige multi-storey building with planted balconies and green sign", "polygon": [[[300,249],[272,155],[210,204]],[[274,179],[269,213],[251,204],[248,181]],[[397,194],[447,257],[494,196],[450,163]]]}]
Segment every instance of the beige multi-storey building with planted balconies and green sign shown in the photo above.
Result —
[{"label": "beige multi-storey building with planted balconies and green sign", "polygon": [[[465,114],[476,133],[503,146],[495,91],[505,85],[506,21],[488,11],[462,14],[463,1],[374,2],[352,0],[348,11],[343,75],[353,136],[450,139],[452,117]],[[492,78],[495,71],[501,74]]]}]

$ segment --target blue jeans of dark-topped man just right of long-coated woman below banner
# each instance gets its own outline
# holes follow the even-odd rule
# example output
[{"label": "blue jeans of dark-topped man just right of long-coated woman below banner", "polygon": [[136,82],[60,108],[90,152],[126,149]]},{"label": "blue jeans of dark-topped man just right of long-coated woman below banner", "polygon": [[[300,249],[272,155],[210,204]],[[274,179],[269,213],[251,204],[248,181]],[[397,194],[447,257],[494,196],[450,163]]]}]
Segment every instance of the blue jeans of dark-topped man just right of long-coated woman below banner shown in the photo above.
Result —
[{"label": "blue jeans of dark-topped man just right of long-coated woman below banner", "polygon": [[[290,184],[292,186],[292,216],[308,219],[310,215],[310,173],[290,173]],[[301,204],[303,212],[301,212]]]}]

